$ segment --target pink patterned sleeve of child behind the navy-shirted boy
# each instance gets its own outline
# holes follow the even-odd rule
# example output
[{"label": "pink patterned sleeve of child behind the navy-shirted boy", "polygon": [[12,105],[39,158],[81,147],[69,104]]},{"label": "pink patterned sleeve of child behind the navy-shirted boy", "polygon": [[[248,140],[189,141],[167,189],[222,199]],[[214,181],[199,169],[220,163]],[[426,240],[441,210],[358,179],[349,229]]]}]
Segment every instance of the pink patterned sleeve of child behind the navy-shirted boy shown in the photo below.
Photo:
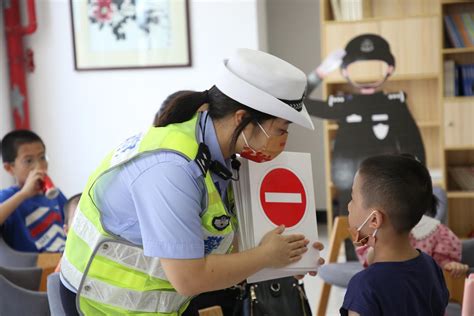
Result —
[{"label": "pink patterned sleeve of child behind the navy-shirted boy", "polygon": [[445,225],[441,224],[438,227],[432,257],[440,267],[451,261],[461,261],[461,241]]}]

